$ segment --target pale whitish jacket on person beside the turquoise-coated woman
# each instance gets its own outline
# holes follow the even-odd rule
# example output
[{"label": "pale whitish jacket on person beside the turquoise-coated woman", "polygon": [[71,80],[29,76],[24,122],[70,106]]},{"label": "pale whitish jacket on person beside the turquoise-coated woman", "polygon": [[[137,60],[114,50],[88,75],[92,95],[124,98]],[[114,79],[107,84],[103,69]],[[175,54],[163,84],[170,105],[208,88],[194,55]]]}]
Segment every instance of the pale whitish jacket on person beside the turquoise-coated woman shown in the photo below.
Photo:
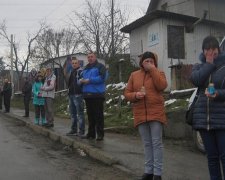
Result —
[{"label": "pale whitish jacket on person beside the turquoise-coated woman", "polygon": [[43,97],[55,98],[55,83],[56,76],[53,73],[45,78],[45,82],[42,87]]}]

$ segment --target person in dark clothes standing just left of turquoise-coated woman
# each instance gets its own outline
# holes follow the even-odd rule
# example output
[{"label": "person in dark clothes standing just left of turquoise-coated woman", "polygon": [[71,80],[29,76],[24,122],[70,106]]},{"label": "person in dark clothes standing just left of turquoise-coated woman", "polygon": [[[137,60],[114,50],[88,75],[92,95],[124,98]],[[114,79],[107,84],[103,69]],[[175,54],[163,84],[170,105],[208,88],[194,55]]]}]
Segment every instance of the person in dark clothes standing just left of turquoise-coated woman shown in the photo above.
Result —
[{"label": "person in dark clothes standing just left of turquoise-coated woman", "polygon": [[24,103],[24,109],[25,109],[25,115],[23,117],[29,117],[29,105],[30,105],[30,99],[32,95],[32,84],[29,82],[28,77],[24,78],[22,93],[23,93],[23,103]]}]

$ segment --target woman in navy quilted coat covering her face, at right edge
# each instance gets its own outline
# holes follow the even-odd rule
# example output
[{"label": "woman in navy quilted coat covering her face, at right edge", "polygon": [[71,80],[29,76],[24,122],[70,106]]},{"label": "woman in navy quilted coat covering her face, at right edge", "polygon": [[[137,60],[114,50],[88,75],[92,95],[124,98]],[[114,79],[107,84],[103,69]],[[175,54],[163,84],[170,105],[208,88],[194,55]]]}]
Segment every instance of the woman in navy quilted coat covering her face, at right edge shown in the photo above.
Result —
[{"label": "woman in navy quilted coat covering her face, at right edge", "polygon": [[[199,89],[193,128],[202,137],[211,180],[222,180],[220,163],[225,175],[225,54],[220,52],[219,42],[213,36],[203,40],[202,51],[201,63],[194,65],[191,73],[191,81]],[[214,85],[212,92],[209,84]]]}]

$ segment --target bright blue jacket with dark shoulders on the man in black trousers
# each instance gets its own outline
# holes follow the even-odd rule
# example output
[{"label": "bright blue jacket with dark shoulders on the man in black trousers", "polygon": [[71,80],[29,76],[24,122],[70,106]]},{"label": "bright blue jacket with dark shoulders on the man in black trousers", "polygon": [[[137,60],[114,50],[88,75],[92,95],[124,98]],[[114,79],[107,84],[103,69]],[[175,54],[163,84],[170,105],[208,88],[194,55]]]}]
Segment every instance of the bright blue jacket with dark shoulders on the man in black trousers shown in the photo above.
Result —
[{"label": "bright blue jacket with dark shoulders on the man in black trousers", "polygon": [[88,64],[83,70],[82,78],[89,79],[88,84],[83,84],[84,98],[104,98],[107,72],[103,64],[97,61],[94,64]]}]

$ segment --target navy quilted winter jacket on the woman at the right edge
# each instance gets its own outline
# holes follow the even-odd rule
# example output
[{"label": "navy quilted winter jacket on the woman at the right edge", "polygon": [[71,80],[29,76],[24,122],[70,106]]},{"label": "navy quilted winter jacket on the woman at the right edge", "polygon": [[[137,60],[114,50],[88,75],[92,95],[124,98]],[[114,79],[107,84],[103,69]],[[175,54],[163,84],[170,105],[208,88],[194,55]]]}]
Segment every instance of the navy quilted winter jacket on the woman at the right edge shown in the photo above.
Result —
[{"label": "navy quilted winter jacket on the woman at the right edge", "polygon": [[[194,106],[194,129],[225,129],[225,54],[219,54],[213,64],[207,63],[203,55],[201,64],[193,66],[192,83],[199,88],[199,96]],[[205,89],[214,83],[217,96],[207,98]]]}]

